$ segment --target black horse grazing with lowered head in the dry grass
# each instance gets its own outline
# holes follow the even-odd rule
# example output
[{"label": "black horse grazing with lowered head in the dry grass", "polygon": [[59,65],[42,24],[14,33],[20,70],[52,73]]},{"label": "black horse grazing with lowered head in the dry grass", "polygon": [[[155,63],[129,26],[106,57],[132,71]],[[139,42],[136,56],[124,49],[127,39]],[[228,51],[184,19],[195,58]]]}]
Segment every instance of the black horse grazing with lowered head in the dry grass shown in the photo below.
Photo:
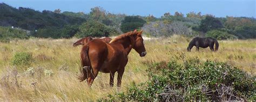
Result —
[{"label": "black horse grazing with lowered head in the dry grass", "polygon": [[[214,43],[215,43],[215,50],[213,49]],[[206,48],[208,46],[210,47],[211,51],[218,51],[219,43],[216,39],[211,37],[207,37],[207,38],[196,37],[191,40],[190,44],[188,44],[187,51],[191,51],[193,46],[197,47],[197,51],[199,51],[199,47]]]}]

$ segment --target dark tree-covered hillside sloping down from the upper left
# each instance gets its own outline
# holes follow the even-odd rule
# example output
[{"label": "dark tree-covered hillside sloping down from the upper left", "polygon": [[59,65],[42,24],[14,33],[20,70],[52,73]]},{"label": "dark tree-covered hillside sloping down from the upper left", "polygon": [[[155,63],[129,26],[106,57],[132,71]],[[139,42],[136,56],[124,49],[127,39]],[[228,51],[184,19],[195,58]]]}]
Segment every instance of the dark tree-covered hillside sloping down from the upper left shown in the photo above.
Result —
[{"label": "dark tree-covered hillside sloping down from the upper left", "polygon": [[18,9],[1,3],[0,4],[0,25],[15,26],[25,30],[37,30],[45,27],[63,28],[64,25],[80,24],[86,21],[85,18],[65,16],[62,13],[55,13],[44,10],[35,11],[30,8]]}]

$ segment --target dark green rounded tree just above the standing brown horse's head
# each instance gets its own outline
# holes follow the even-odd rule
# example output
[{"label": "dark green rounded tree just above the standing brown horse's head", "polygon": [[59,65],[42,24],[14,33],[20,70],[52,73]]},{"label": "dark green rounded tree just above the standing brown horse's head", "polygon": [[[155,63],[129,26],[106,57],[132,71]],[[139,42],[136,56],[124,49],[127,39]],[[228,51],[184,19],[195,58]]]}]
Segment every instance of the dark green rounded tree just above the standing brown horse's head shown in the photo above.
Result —
[{"label": "dark green rounded tree just above the standing brown horse's head", "polygon": [[123,32],[133,31],[134,29],[141,28],[145,23],[146,21],[139,18],[139,16],[126,16],[122,21],[121,30]]}]

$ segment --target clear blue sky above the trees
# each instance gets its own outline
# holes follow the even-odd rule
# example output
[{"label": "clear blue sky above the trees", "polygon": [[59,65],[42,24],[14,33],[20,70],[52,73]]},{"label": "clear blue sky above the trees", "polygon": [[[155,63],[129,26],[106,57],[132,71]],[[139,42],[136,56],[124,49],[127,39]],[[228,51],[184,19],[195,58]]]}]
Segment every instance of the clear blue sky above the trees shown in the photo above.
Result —
[{"label": "clear blue sky above the trees", "polygon": [[89,13],[100,6],[110,13],[125,13],[161,17],[166,12],[184,14],[191,11],[211,14],[215,17],[256,17],[256,0],[0,0],[15,8],[20,6],[34,10],[60,9],[63,11]]}]

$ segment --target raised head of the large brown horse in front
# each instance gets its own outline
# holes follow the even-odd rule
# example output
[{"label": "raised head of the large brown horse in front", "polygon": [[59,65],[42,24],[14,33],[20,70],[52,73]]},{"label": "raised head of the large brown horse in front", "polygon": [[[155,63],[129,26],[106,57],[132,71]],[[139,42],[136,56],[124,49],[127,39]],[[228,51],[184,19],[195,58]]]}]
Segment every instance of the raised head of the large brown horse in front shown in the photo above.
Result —
[{"label": "raised head of the large brown horse in front", "polygon": [[133,37],[130,37],[132,41],[132,48],[139,53],[140,57],[144,57],[147,52],[143,43],[143,38],[142,38],[142,30],[137,32],[137,30],[133,31],[134,33],[137,33],[137,35],[133,35]]}]

